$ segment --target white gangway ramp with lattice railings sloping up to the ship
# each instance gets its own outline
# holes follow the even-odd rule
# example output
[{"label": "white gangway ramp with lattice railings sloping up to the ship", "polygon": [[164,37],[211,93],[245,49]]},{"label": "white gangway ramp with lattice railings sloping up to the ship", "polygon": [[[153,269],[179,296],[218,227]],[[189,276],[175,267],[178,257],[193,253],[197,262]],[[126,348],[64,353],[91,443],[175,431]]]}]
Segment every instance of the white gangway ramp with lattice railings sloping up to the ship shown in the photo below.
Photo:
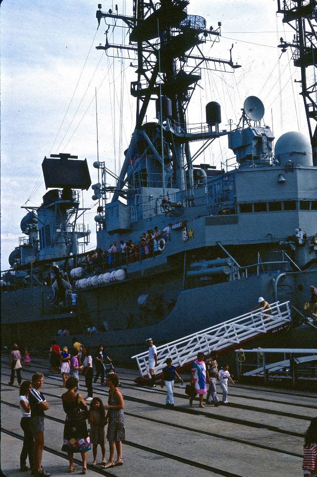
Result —
[{"label": "white gangway ramp with lattice railings sloping up to the ship", "polygon": [[[182,367],[196,359],[197,353],[210,353],[211,350],[224,350],[236,343],[243,343],[256,336],[261,336],[268,331],[283,329],[291,321],[289,301],[270,304],[271,315],[266,315],[259,310],[246,313],[236,318],[228,319],[222,323],[203,329],[170,343],[158,346],[158,366],[156,373],[165,366],[166,358],[172,358],[175,367]],[[181,319],[180,319],[181,323]],[[180,325],[181,326],[181,325]],[[158,337],[159,338],[159,337]],[[145,351],[132,356],[138,363],[141,376],[149,373],[149,353]]]}]

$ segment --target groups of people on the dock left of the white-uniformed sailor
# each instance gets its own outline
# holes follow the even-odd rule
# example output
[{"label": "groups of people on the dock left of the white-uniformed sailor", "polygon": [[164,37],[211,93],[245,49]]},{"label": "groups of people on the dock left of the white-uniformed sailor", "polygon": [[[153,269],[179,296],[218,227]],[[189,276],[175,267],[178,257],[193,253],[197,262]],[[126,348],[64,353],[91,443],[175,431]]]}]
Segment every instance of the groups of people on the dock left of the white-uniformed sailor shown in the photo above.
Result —
[{"label": "groups of people on the dock left of the white-uniformed sailor", "polygon": [[[20,455],[20,471],[28,470],[27,457],[34,477],[49,477],[51,474],[42,467],[42,454],[44,449],[44,416],[49,409],[49,403],[41,391],[44,374],[36,372],[32,381],[21,382],[20,364],[21,354],[16,344],[10,354],[11,371],[10,385],[14,383],[16,370],[18,384],[20,384],[19,405],[21,410],[21,428],[24,433],[23,447]],[[30,357],[30,355],[29,355]],[[31,360],[31,358],[30,358]],[[93,361],[96,369],[94,382],[101,376],[101,384],[109,389],[108,402],[105,405],[100,398],[93,397]],[[105,362],[110,364],[107,369]],[[119,378],[111,364],[112,360],[101,345],[94,357],[90,349],[77,340],[73,342],[72,350],[67,347],[60,350],[53,341],[50,347],[50,372],[60,371],[62,387],[66,392],[61,396],[63,410],[66,414],[63,443],[61,450],[67,452],[69,460],[68,472],[75,472],[74,453],[79,453],[82,458],[82,475],[87,473],[88,451],[93,449],[92,466],[97,465],[97,450],[101,447],[102,468],[122,466],[122,440],[125,438],[124,427],[124,400],[119,386]],[[14,365],[14,366],[13,366]],[[85,377],[87,397],[79,393],[79,371]],[[105,379],[106,378],[106,379]],[[87,426],[87,420],[90,430]],[[105,431],[105,426],[107,430]],[[109,457],[106,460],[106,444],[109,443]],[[116,452],[116,459],[115,459]]]}]

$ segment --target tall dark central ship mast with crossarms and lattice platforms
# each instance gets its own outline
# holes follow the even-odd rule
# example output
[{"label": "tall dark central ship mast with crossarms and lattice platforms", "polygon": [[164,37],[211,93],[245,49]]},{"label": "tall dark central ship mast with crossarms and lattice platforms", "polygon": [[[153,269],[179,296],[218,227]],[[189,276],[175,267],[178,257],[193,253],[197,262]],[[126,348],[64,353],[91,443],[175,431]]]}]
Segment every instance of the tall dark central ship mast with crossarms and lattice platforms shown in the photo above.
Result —
[{"label": "tall dark central ship mast with crossarms and lattice platforms", "polygon": [[[152,168],[147,166],[146,170],[147,187],[160,187],[164,194],[166,185],[166,189],[181,191],[183,199],[187,200],[188,188],[193,186],[189,143],[210,141],[227,134],[207,124],[201,124],[195,131],[188,129],[186,111],[201,79],[201,68],[207,64],[209,69],[233,72],[239,67],[232,62],[231,50],[227,60],[206,57],[202,53],[202,44],[211,42],[212,46],[218,41],[221,23],[218,22],[216,29],[208,29],[203,17],[187,14],[188,4],[187,0],[160,0],[156,4],[152,0],[133,0],[133,16],[118,14],[117,6],[116,13],[111,9],[103,12],[102,5],[98,5],[99,25],[106,18],[112,18],[114,25],[123,21],[129,29],[129,44],[109,43],[106,35],[106,45],[96,49],[105,50],[109,56],[114,54],[111,51],[120,51],[130,61],[130,54],[134,52],[137,59],[137,80],[131,83],[131,95],[136,98],[135,130],[125,152],[112,202],[119,196],[127,198],[124,187],[128,185],[131,189],[129,183],[142,182],[144,185],[141,175],[129,182],[129,174],[135,174],[145,156],[153,158]],[[154,122],[144,123],[151,100],[156,100],[157,127]]]}]

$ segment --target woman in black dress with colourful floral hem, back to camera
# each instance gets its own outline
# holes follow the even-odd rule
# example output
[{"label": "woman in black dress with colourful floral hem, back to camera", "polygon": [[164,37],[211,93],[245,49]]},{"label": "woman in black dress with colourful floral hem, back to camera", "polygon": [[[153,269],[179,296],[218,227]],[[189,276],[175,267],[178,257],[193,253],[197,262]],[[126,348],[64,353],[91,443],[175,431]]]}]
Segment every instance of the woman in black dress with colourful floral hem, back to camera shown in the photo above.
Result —
[{"label": "woman in black dress with colourful floral hem, back to camera", "polygon": [[64,440],[62,451],[67,452],[69,460],[68,472],[74,472],[74,452],[80,452],[83,461],[82,475],[87,474],[87,451],[91,449],[86,420],[80,414],[83,411],[88,418],[87,404],[80,394],[76,394],[78,381],[71,376],[66,381],[67,391],[62,395],[63,409],[66,413]]}]

